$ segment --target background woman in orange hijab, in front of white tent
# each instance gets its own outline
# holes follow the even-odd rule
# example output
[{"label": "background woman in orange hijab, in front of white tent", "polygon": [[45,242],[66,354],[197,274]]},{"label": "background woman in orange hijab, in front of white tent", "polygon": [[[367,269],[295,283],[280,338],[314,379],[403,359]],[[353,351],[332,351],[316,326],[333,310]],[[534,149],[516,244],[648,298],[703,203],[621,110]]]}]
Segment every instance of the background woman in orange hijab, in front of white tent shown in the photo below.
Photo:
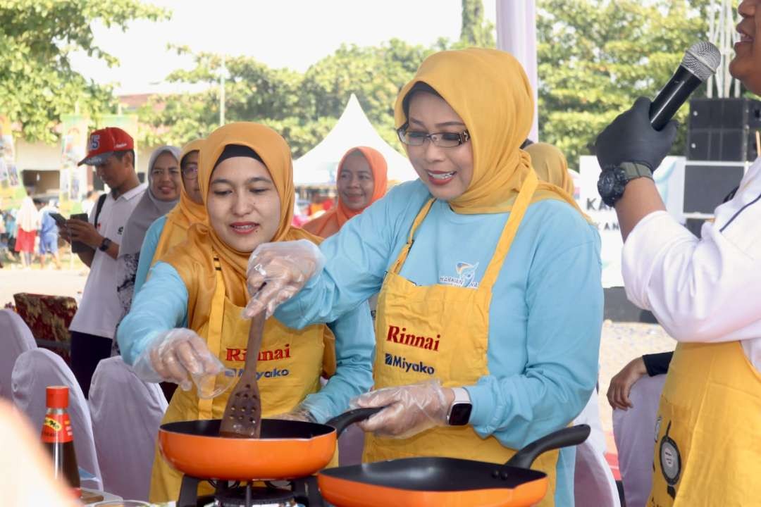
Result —
[{"label": "background woman in orange hijab, in front of white tent", "polygon": [[333,236],[351,217],[386,194],[386,159],[379,151],[358,146],[347,151],[338,163],[338,205],[304,224],[304,230],[326,238]]}]

